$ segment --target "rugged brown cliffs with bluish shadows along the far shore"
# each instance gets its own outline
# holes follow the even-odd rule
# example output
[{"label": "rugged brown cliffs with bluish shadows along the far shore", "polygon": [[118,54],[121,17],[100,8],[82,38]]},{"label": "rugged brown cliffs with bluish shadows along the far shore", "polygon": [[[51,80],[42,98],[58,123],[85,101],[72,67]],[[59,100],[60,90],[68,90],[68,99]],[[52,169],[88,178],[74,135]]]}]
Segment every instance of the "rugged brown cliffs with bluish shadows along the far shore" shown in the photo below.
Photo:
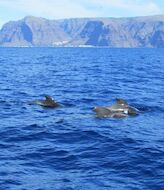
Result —
[{"label": "rugged brown cliffs with bluish shadows along the far shore", "polygon": [[25,17],[2,27],[0,46],[163,48],[164,15],[64,20]]}]

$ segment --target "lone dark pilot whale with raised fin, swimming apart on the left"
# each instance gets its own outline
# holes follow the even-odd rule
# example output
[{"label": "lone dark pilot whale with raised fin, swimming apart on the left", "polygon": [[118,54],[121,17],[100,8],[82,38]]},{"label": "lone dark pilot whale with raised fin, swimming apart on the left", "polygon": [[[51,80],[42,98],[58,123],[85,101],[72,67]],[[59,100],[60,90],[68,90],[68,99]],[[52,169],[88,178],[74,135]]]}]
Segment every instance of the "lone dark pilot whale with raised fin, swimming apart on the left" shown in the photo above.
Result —
[{"label": "lone dark pilot whale with raised fin, swimming apart on the left", "polygon": [[29,103],[29,105],[40,105],[43,107],[57,108],[60,107],[60,104],[56,102],[51,96],[45,95],[44,100],[35,100]]}]

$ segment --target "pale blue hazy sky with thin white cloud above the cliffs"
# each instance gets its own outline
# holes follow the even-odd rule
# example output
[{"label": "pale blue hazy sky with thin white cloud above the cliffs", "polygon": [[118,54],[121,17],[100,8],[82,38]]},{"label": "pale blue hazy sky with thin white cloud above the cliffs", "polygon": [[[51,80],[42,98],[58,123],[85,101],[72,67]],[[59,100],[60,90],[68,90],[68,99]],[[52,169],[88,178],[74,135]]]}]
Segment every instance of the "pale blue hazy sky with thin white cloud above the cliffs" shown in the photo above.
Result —
[{"label": "pale blue hazy sky with thin white cloud above the cliffs", "polygon": [[0,0],[0,27],[25,16],[48,19],[164,14],[164,0]]}]

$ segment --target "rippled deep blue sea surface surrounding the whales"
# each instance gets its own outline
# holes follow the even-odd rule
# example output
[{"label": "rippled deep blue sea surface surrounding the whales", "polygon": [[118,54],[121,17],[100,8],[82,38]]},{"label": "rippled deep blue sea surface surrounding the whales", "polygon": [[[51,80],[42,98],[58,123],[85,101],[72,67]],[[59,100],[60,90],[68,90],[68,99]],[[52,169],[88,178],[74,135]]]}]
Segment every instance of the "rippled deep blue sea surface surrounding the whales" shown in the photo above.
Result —
[{"label": "rippled deep blue sea surface surrounding the whales", "polygon": [[164,49],[0,48],[0,190],[163,189]]}]

